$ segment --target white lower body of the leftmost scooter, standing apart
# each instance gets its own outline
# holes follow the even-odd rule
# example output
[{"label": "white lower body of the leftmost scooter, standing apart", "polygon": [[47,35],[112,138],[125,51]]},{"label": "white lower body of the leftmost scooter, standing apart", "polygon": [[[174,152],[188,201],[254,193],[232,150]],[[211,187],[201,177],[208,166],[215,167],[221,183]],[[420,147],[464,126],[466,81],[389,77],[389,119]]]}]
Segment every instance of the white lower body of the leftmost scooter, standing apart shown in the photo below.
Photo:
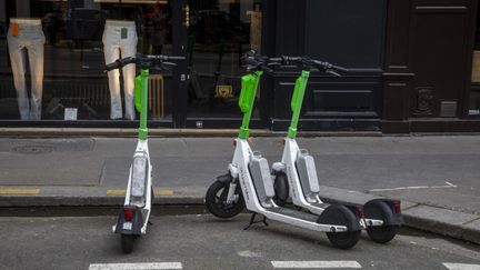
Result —
[{"label": "white lower body of the leftmost scooter, standing apart", "polygon": [[[139,181],[133,183],[133,171],[132,171],[132,167],[133,167],[133,162],[137,158],[144,158],[147,160],[147,173],[146,173],[146,178],[147,181]],[[133,162],[130,166],[130,172],[129,172],[129,181],[127,184],[127,191],[126,191],[126,199],[123,202],[123,206],[137,206],[140,209],[141,216],[142,216],[142,227],[140,229],[141,234],[146,234],[147,233],[147,224],[148,224],[148,220],[150,218],[150,212],[151,212],[151,190],[152,190],[152,182],[151,182],[151,176],[152,176],[152,166],[150,163],[150,153],[149,153],[149,149],[148,149],[148,140],[139,140],[137,143],[137,149],[133,153]],[[142,197],[138,196],[138,197],[133,197],[132,194],[132,184],[134,184],[136,191],[133,191],[133,193],[140,194],[142,193]],[[137,200],[136,200],[137,199]],[[139,200],[140,199],[140,200]],[[123,223],[123,230],[128,230],[129,228],[131,229],[131,223],[128,224],[129,222],[124,222]],[[113,232],[116,232],[117,229],[117,224],[113,226],[112,230]]]}]

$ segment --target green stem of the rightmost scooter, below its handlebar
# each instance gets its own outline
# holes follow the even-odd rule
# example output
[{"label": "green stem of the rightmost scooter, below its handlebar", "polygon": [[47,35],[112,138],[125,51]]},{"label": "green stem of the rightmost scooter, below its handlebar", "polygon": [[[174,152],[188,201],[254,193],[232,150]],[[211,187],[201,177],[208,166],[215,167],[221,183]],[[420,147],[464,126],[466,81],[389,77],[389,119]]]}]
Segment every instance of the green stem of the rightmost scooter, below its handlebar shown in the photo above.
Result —
[{"label": "green stem of the rightmost scooter, below its handlebar", "polygon": [[301,107],[303,103],[303,97],[307,89],[307,82],[310,77],[310,71],[302,70],[300,77],[296,81],[293,96],[291,99],[292,120],[290,122],[288,138],[294,139],[297,136],[297,126],[300,118]]}]

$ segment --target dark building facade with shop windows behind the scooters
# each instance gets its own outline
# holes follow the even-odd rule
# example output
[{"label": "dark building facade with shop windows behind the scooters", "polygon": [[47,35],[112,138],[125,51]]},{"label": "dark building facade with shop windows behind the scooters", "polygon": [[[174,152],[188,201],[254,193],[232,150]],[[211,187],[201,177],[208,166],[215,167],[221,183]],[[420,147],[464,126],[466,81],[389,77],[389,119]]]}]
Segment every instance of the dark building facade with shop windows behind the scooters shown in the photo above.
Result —
[{"label": "dark building facade with shop windows behind the scooters", "polygon": [[[349,68],[312,73],[303,131],[480,131],[477,0],[0,0],[0,10],[2,127],[136,127],[132,74],[103,73],[110,52],[134,51],[188,58],[152,72],[152,127],[237,128],[239,59],[254,49]],[[43,53],[13,56],[30,28],[43,32]],[[116,28],[130,29],[120,46],[106,38]],[[253,128],[287,130],[298,74],[264,76]]]}]

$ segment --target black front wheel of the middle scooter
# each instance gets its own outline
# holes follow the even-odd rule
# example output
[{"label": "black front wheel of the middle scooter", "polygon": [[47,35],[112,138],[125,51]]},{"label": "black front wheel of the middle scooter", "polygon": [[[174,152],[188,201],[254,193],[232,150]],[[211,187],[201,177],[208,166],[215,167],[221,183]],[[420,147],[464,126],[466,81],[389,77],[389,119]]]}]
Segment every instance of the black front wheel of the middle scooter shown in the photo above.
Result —
[{"label": "black front wheel of the middle scooter", "polygon": [[239,199],[237,202],[233,202],[231,204],[224,203],[224,201],[227,200],[229,187],[230,183],[222,183],[220,181],[214,181],[207,191],[206,207],[213,216],[218,218],[222,218],[222,219],[232,218],[239,214],[241,211],[243,211],[246,207],[243,196],[241,194],[241,192],[238,193]]}]

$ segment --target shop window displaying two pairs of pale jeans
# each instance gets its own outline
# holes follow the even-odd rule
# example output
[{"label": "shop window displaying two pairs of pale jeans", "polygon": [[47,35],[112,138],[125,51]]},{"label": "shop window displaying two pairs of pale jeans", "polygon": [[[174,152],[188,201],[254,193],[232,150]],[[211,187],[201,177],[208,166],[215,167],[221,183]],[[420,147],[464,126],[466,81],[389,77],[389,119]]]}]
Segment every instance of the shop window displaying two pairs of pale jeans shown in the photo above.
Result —
[{"label": "shop window displaying two pairs of pale jeans", "polygon": [[[0,120],[138,119],[139,68],[103,68],[137,52],[171,53],[170,2],[0,0]],[[149,118],[168,121],[172,72],[151,73]]]}]

